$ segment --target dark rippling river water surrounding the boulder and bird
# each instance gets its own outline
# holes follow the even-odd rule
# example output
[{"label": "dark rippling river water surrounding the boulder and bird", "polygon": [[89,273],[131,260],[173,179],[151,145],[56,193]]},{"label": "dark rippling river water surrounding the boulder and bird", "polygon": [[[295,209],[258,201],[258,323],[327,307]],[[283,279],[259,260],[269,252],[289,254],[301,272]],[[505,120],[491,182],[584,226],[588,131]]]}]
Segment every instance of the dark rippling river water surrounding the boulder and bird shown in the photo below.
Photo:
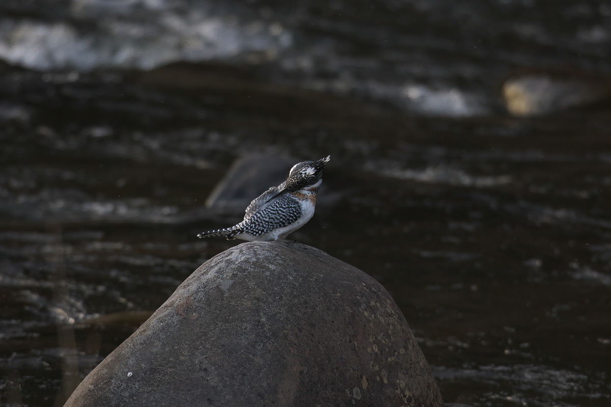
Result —
[{"label": "dark rippling river water surrounding the boulder and bird", "polygon": [[516,68],[608,79],[610,20],[603,1],[2,2],[0,405],[62,405],[235,245],[195,235],[240,220],[204,203],[252,153],[331,154],[291,236],[392,293],[445,402],[609,405],[609,105],[512,117],[499,89]]}]

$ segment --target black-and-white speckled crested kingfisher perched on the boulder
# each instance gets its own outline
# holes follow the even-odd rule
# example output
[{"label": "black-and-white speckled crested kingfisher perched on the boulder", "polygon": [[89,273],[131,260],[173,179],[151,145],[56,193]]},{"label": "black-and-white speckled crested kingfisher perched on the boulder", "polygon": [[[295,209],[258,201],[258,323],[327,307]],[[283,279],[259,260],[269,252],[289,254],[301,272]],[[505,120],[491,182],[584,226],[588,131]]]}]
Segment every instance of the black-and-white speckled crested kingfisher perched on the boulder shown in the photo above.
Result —
[{"label": "black-and-white speckled crested kingfisher perched on the boulder", "polygon": [[293,165],[282,184],[252,200],[244,220],[231,228],[203,232],[197,237],[225,236],[227,240],[285,240],[314,215],[323,170],[331,156]]}]

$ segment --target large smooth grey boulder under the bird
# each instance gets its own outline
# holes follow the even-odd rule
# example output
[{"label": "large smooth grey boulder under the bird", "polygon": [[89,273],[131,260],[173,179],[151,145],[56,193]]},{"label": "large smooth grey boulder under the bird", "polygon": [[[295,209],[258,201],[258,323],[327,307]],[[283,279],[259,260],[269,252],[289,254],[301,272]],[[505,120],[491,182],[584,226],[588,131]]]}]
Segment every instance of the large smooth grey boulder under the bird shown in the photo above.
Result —
[{"label": "large smooth grey boulder under the bird", "polygon": [[66,406],[443,406],[388,292],[298,243],[200,266]]}]

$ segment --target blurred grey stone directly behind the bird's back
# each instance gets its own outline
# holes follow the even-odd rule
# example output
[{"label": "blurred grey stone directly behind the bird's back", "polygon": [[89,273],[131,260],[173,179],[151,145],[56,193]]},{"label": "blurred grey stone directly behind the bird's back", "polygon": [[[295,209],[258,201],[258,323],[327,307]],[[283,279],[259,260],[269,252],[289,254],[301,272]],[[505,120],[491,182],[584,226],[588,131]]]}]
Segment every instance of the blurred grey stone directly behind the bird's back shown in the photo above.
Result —
[{"label": "blurred grey stone directly behind the bird's back", "polygon": [[284,182],[288,171],[298,162],[298,159],[263,155],[237,159],[208,196],[206,206],[246,209],[269,187]]}]

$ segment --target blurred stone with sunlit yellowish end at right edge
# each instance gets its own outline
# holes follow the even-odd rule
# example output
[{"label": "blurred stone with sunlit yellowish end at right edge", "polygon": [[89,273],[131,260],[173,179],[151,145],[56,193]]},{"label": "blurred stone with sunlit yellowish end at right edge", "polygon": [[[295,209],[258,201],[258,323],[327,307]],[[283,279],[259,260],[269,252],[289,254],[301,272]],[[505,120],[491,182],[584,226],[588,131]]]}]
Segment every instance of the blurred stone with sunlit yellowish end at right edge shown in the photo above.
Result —
[{"label": "blurred stone with sunlit yellowish end at right edge", "polygon": [[576,71],[524,72],[503,83],[507,110],[516,116],[552,113],[611,96],[610,79]]}]

